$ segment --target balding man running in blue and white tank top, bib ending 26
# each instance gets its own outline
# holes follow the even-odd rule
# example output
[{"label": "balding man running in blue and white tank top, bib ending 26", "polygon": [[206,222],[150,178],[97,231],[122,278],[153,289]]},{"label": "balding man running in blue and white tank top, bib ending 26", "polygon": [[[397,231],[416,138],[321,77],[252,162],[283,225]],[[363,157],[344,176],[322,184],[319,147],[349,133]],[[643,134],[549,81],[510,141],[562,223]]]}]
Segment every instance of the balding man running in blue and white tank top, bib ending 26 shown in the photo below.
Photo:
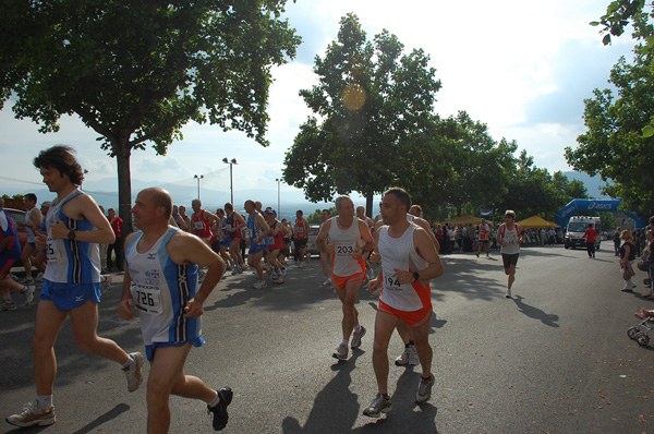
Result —
[{"label": "balding man running in blue and white tank top, bib ending 26", "polygon": [[[150,361],[148,432],[169,432],[171,394],[205,401],[219,431],[227,424],[232,390],[208,387],[186,375],[184,364],[191,347],[204,343],[204,303],[225,273],[225,262],[199,238],[169,226],[171,209],[172,198],[164,189],[146,189],[136,196],[132,214],[141,231],[125,240],[128,268],[118,312],[123,320],[134,318],[133,308],[141,312]],[[198,266],[207,267],[199,288]],[[153,391],[156,398],[149,396]]]}]

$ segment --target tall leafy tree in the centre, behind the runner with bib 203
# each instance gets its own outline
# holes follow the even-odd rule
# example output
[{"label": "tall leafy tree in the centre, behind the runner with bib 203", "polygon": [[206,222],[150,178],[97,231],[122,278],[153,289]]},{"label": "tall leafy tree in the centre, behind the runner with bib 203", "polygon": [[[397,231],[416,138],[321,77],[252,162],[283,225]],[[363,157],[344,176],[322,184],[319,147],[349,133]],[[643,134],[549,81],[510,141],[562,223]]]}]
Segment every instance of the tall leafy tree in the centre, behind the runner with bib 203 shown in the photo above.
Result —
[{"label": "tall leafy tree in the centre, behind the runner with bib 203", "polygon": [[387,31],[368,41],[350,13],[325,57],[316,57],[319,83],[300,92],[315,114],[300,126],[283,171],[284,181],[308,200],[356,191],[367,198],[370,215],[373,194],[411,184],[405,177],[420,174],[407,167],[432,162],[420,149],[433,149],[421,145],[433,137],[440,82],[423,50],[403,48]]}]

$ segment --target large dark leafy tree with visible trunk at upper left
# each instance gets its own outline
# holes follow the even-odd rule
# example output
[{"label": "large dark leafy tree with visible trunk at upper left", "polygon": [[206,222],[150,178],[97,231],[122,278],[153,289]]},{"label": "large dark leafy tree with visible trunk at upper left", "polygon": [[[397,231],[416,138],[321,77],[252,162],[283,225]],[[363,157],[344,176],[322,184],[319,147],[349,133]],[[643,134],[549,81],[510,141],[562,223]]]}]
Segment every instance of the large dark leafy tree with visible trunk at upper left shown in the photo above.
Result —
[{"label": "large dark leafy tree with visible trunk at upper left", "polygon": [[[0,104],[41,132],[77,114],[114,156],[131,230],[130,156],[158,154],[194,120],[266,146],[270,68],[300,43],[286,0],[3,0]],[[1,106],[0,106],[1,108]]]}]

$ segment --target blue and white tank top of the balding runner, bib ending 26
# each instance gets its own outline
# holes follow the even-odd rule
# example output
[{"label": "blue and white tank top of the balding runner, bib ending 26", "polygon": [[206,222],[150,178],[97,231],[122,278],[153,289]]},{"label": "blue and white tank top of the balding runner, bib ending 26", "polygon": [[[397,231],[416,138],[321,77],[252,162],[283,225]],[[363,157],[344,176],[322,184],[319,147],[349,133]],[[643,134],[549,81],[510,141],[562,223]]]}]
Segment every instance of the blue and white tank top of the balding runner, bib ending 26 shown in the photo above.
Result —
[{"label": "blue and white tank top of the balding runner, bib ending 26", "polygon": [[170,227],[144,253],[136,249],[143,237],[140,231],[125,253],[132,278],[130,289],[146,346],[192,341],[202,335],[202,317],[184,317],[184,308],[197,292],[197,265],[177,264],[166,251],[166,244],[178,230]]}]

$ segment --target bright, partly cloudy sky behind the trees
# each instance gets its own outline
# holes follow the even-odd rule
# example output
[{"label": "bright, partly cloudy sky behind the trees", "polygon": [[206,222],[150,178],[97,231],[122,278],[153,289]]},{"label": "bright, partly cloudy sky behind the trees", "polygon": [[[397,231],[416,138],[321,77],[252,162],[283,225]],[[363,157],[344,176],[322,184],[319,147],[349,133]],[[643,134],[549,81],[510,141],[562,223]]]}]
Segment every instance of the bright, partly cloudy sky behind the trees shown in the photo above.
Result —
[{"label": "bright, partly cloudy sky behind the trees", "polygon": [[[440,116],[465,110],[486,123],[496,141],[516,140],[519,150],[526,149],[536,166],[550,172],[570,170],[564,148],[574,147],[577,136],[584,132],[583,99],[595,87],[608,87],[610,68],[620,56],[632,58],[629,35],[604,47],[597,28],[589,25],[606,12],[608,2],[289,1],[287,16],[303,44],[295,60],[274,71],[267,135],[271,146],[263,148],[238,132],[190,123],[182,130],[184,140],[172,144],[166,157],[152,149],[135,150],[132,178],[153,184],[195,185],[193,176],[204,174],[203,186],[228,191],[229,166],[221,162],[228,157],[239,162],[234,190],[276,189],[284,153],[298,126],[311,114],[298,92],[316,83],[314,57],[323,56],[336,39],[339,21],[348,12],[359,16],[370,39],[386,28],[398,36],[407,52],[422,48],[431,56],[443,84],[435,105]],[[25,190],[31,190],[29,182],[40,182],[33,157],[60,143],[77,149],[88,180],[116,177],[116,161],[99,148],[98,134],[76,118],[62,118],[59,133],[44,135],[29,120],[15,120],[11,105],[5,103],[0,112],[3,183],[26,181]]]}]

